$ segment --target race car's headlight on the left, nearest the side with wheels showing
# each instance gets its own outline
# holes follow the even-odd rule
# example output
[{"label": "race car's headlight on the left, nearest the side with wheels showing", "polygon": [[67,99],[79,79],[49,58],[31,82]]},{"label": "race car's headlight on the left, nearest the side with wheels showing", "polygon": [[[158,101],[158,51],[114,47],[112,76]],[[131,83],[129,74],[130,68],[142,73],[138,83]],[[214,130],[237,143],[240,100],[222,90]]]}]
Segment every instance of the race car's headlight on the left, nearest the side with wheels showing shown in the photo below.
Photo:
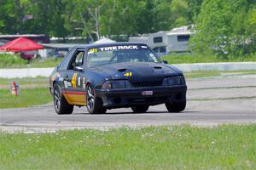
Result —
[{"label": "race car's headlight on the left, nearest the side with wheels showing", "polygon": [[111,88],[132,88],[132,86],[128,80],[106,81],[102,84],[102,89]]}]

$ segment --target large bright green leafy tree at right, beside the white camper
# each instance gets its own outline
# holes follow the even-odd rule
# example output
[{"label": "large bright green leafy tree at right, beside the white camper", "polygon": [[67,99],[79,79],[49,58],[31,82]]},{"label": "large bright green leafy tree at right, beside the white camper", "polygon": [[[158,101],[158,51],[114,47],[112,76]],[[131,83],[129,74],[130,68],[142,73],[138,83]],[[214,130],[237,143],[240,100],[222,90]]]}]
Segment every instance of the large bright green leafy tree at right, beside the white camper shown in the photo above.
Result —
[{"label": "large bright green leafy tree at right, beside the white camper", "polygon": [[247,0],[205,0],[190,41],[192,50],[222,57],[253,53],[253,31],[248,20],[251,8]]}]

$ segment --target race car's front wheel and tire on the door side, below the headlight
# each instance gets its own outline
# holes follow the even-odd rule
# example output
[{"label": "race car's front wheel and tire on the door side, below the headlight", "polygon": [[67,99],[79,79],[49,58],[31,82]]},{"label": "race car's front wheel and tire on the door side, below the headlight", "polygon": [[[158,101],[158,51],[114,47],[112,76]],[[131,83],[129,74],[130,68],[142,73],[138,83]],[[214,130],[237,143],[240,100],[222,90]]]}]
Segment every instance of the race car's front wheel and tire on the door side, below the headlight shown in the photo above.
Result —
[{"label": "race car's front wheel and tire on the door side, below the headlight", "polygon": [[103,107],[101,98],[96,97],[95,90],[90,86],[86,86],[86,107],[90,114],[104,114],[107,109]]}]

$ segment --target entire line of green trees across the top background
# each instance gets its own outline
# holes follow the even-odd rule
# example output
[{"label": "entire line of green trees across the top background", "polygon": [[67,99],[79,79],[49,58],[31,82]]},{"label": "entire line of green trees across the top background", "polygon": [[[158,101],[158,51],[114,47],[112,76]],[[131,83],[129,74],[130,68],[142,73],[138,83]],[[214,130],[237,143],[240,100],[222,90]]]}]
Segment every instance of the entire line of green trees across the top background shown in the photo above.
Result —
[{"label": "entire line of green trees across the top background", "polygon": [[95,41],[188,25],[195,26],[193,52],[255,52],[255,0],[0,0],[0,34],[44,33]]}]

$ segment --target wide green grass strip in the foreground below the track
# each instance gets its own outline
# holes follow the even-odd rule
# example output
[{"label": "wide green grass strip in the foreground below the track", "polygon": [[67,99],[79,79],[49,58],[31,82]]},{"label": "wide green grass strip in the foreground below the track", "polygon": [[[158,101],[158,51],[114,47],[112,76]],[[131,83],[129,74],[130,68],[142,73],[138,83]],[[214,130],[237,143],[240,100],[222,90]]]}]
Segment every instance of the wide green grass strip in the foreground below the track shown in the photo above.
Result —
[{"label": "wide green grass strip in the foreground below the track", "polygon": [[255,124],[0,133],[0,169],[255,168]]}]

